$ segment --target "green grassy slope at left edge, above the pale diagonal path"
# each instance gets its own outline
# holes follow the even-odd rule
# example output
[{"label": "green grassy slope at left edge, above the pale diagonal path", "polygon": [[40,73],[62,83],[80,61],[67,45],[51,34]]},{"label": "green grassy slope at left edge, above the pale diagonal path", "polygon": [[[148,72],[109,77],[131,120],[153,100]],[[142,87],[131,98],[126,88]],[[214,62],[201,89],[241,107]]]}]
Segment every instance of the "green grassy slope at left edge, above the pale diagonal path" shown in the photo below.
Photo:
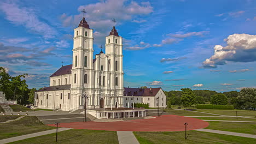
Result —
[{"label": "green grassy slope at left edge, above the pale diagonal path", "polygon": [[27,116],[9,123],[0,124],[0,139],[37,133],[39,131],[54,129],[39,122],[36,116]]}]

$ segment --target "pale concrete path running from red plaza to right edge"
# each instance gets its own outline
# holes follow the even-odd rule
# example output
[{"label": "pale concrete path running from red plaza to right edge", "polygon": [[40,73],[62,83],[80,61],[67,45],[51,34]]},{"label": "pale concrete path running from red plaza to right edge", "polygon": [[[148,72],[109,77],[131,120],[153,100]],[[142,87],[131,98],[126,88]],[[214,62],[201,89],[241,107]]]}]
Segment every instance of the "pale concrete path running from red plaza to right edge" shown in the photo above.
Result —
[{"label": "pale concrete path running from red plaza to right edge", "polygon": [[233,135],[233,136],[241,136],[241,137],[248,137],[256,139],[256,135],[251,134],[243,134],[243,133],[235,133],[230,131],[222,131],[222,130],[213,130],[213,129],[196,129],[196,131],[205,131],[208,133],[216,133],[216,134],[223,134],[223,135]]}]

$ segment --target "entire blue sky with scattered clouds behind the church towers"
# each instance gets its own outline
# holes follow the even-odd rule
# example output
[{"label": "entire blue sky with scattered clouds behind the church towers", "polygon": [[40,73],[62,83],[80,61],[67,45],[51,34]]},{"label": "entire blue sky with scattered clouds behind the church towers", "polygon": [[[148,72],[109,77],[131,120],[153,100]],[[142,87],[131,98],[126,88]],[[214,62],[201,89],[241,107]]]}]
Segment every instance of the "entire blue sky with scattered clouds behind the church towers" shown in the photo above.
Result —
[{"label": "entire blue sky with scattered clouds behind the church towers", "polygon": [[73,28],[94,29],[95,54],[112,29],[124,38],[124,86],[218,92],[256,87],[256,1],[1,1],[0,66],[30,88],[72,63]]}]

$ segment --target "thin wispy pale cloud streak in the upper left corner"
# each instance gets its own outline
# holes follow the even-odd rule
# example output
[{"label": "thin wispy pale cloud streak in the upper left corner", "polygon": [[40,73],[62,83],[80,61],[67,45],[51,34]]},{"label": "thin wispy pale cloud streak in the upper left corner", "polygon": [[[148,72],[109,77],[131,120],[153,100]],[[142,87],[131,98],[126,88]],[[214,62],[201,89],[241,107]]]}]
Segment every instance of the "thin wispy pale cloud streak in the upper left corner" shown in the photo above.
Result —
[{"label": "thin wispy pale cloud streak in the upper left corner", "polygon": [[[5,19],[18,26],[24,26],[29,32],[43,35],[44,38],[54,38],[57,31],[47,23],[40,21],[31,8],[19,7],[13,2],[1,2],[0,9],[5,14]],[[14,12],[15,11],[15,12]]]}]

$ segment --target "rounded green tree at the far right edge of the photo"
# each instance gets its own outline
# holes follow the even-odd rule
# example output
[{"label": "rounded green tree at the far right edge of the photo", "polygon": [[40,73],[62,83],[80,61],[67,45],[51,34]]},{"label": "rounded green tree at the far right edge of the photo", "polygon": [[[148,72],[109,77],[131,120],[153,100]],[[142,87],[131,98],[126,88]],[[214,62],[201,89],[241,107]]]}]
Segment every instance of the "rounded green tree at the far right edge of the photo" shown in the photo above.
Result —
[{"label": "rounded green tree at the far right edge of the photo", "polygon": [[240,109],[255,110],[256,109],[256,88],[241,89],[238,97]]}]

